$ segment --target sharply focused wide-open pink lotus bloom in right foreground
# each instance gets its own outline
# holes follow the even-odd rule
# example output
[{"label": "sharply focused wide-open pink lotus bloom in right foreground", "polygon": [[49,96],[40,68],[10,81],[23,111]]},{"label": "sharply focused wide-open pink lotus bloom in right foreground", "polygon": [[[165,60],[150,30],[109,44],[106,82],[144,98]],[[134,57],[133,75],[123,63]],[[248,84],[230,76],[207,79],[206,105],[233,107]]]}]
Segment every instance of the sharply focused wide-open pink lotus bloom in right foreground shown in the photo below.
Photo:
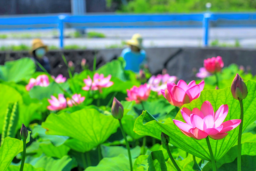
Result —
[{"label": "sharply focused wide-open pink lotus bloom in right foreground", "polygon": [[227,104],[222,104],[214,112],[212,104],[205,101],[201,110],[194,108],[191,111],[182,108],[180,112],[186,123],[173,119],[174,124],[180,128],[182,133],[194,139],[204,139],[207,136],[212,139],[223,139],[228,135],[228,131],[235,129],[241,123],[241,119],[223,122],[228,114]]}]

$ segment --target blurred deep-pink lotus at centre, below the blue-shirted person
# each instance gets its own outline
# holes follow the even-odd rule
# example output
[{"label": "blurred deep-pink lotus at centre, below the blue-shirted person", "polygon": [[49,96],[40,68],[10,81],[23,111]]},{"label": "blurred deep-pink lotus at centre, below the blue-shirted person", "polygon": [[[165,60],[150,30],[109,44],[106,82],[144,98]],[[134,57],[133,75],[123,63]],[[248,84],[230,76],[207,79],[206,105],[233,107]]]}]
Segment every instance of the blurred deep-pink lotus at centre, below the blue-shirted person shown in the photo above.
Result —
[{"label": "blurred deep-pink lotus at centre, below the blue-shirted person", "polygon": [[135,100],[136,103],[141,103],[146,101],[150,94],[150,87],[147,83],[140,85],[140,87],[133,86],[130,90],[127,89],[127,96],[125,99],[127,101]]}]

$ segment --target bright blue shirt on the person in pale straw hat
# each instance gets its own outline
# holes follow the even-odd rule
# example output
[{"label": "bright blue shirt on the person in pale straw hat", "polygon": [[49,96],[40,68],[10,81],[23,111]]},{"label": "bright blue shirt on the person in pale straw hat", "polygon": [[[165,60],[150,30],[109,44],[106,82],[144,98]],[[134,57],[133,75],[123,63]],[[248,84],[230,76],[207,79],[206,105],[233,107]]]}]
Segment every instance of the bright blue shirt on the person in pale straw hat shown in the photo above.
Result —
[{"label": "bright blue shirt on the person in pale straw hat", "polygon": [[134,72],[139,72],[140,65],[146,58],[146,52],[144,50],[140,50],[140,52],[133,52],[131,48],[125,48],[121,56],[126,61],[126,70],[132,70]]}]

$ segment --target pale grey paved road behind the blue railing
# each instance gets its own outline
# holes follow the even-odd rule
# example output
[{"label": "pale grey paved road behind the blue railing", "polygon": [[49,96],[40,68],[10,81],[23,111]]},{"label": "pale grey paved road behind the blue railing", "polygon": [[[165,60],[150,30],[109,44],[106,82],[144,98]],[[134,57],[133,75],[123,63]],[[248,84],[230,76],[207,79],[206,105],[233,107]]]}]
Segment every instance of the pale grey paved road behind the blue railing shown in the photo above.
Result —
[{"label": "pale grey paved road behind the blue railing", "polygon": [[[145,47],[179,47],[202,46],[203,30],[201,28],[158,28],[158,29],[87,29],[87,32],[101,32],[106,38],[66,38],[64,45],[79,45],[87,48],[108,48],[120,46],[122,42],[130,39],[134,33],[140,33]],[[74,32],[66,29],[65,35]],[[28,34],[27,34],[28,33]],[[59,46],[58,31],[36,30],[19,32],[0,32],[10,38],[0,39],[0,46],[25,44],[30,46],[32,37],[42,37],[43,41],[51,46]],[[21,35],[21,36],[19,36]],[[19,38],[17,38],[19,37]],[[29,38],[31,37],[31,38]],[[218,40],[220,44],[234,45],[238,40],[242,47],[256,48],[255,28],[211,28],[210,41]]]}]

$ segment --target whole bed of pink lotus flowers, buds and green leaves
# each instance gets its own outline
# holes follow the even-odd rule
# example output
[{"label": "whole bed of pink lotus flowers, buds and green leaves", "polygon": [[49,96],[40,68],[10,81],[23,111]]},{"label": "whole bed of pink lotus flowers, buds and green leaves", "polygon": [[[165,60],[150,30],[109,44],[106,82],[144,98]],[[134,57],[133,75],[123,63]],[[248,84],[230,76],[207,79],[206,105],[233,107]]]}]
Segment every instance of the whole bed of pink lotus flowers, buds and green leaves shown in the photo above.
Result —
[{"label": "whole bed of pink lotus flowers, buds and green leaves", "polygon": [[122,58],[66,64],[69,78],[30,58],[0,66],[0,171],[256,170],[250,70],[216,57],[185,82]]}]

